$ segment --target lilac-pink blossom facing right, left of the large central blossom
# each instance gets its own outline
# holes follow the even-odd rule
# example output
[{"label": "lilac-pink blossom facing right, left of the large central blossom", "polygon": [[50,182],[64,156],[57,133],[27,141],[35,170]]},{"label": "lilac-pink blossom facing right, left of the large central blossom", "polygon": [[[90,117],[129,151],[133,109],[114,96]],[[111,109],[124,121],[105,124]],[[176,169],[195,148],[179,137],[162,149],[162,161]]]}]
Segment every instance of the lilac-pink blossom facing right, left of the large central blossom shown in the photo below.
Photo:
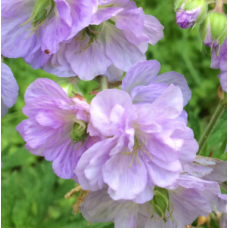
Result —
[{"label": "lilac-pink blossom facing right, left of the large central blossom", "polygon": [[59,177],[72,178],[81,154],[97,140],[88,133],[89,104],[80,97],[69,98],[57,83],[44,78],[29,85],[25,103],[28,119],[16,128],[25,148],[53,161]]}]

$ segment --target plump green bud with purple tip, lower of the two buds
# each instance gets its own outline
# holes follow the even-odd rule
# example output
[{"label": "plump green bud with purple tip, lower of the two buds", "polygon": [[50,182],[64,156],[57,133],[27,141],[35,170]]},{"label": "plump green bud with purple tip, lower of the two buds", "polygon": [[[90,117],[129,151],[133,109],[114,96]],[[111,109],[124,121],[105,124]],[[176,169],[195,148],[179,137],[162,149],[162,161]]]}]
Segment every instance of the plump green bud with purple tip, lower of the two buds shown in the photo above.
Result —
[{"label": "plump green bud with purple tip, lower of the two buds", "polygon": [[227,19],[224,13],[210,12],[200,25],[200,37],[206,46],[220,47],[226,39]]}]

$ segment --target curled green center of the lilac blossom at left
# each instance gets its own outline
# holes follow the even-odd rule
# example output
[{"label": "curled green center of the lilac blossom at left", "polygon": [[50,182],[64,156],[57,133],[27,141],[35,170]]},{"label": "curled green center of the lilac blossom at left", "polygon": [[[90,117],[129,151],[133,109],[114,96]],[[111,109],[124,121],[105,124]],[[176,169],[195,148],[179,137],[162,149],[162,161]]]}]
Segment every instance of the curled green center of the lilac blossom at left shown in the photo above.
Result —
[{"label": "curled green center of the lilac blossom at left", "polygon": [[84,141],[89,136],[89,134],[87,133],[87,126],[88,123],[82,120],[77,120],[77,122],[73,124],[73,128],[70,133],[72,144],[82,142],[83,145]]}]

